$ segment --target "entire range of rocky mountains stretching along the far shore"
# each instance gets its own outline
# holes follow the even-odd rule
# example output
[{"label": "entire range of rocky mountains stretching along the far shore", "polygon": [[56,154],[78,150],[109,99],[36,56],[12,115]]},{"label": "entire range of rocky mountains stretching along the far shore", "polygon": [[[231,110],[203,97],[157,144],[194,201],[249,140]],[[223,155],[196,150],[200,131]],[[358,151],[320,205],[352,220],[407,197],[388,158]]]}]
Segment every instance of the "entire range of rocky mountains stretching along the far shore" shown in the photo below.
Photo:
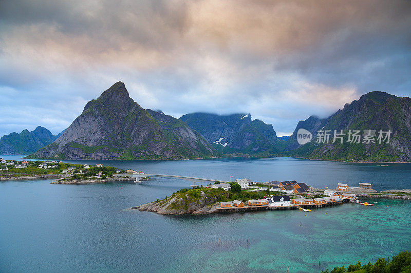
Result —
[{"label": "entire range of rocky mountains stretching along the far shore", "polygon": [[[298,142],[300,129],[309,132],[311,141],[303,145]],[[316,141],[321,136],[317,136],[320,130],[329,132],[327,143]],[[363,134],[363,138],[367,130],[372,130],[375,141],[350,141],[350,134],[356,130]],[[389,141],[378,143],[380,130],[390,131]],[[25,136],[34,131],[26,131],[22,132],[24,136],[21,141],[32,143],[33,140],[26,141]],[[334,131],[345,138],[337,136],[335,140],[338,141],[334,141]],[[51,134],[48,130],[47,132]],[[15,138],[18,134],[10,135]],[[10,138],[10,135],[4,136],[2,140]],[[10,142],[8,140],[7,143]],[[385,92],[370,92],[345,104],[343,109],[327,118],[310,116],[298,122],[294,133],[289,137],[277,137],[271,124],[258,119],[252,120],[249,113],[191,113],[177,119],[160,110],[143,109],[129,97],[124,83],[117,82],[100,97],[89,101],[83,113],[59,138],[51,135],[47,141],[37,142],[36,148],[46,146],[29,158],[191,159],[291,156],[341,161],[410,162],[411,99]],[[4,146],[5,144],[0,144],[0,149],[4,149]],[[10,144],[7,147],[8,154],[29,151],[21,148],[12,150]]]}]

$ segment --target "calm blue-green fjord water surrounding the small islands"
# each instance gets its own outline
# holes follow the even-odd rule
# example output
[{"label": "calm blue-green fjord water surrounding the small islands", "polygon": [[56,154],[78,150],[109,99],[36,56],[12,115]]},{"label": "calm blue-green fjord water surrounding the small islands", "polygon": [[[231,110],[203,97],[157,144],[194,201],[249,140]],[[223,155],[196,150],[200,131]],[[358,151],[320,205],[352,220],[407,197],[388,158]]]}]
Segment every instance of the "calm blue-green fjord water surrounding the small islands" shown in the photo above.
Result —
[{"label": "calm blue-green fjord water surrounding the small islands", "polygon": [[[231,175],[254,181],[297,180],[315,187],[371,182],[377,190],[411,188],[409,164],[290,158],[70,162],[221,180]],[[289,267],[290,272],[317,272],[357,260],[387,259],[391,251],[397,254],[411,246],[409,201],[361,199],[378,203],[310,213],[162,216],[126,208],[170,196],[190,182],[50,181],[0,182],[0,271],[285,272]]]}]

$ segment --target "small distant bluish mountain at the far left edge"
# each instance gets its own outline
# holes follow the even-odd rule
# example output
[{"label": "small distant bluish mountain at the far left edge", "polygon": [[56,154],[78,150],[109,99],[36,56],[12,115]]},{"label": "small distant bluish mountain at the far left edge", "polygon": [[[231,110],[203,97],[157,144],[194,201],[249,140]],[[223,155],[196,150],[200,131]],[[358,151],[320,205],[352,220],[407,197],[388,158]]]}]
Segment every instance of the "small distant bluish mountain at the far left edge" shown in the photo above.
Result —
[{"label": "small distant bluish mountain at the far left edge", "polygon": [[40,126],[31,132],[26,129],[20,134],[10,133],[0,139],[0,155],[31,154],[58,137],[59,135],[54,136],[49,130]]}]

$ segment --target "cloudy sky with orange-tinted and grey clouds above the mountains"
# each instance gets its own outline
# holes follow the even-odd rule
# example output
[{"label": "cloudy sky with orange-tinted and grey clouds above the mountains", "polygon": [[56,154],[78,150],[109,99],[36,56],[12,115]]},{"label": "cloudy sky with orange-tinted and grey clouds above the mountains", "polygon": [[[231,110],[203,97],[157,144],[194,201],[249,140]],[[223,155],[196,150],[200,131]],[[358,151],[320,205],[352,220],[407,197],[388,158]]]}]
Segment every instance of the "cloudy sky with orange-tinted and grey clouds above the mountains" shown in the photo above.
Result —
[{"label": "cloudy sky with orange-tinted and grey clouds above the mountains", "polygon": [[411,2],[0,1],[0,136],[57,134],[117,81],[146,109],[289,135],[370,91],[411,95]]}]

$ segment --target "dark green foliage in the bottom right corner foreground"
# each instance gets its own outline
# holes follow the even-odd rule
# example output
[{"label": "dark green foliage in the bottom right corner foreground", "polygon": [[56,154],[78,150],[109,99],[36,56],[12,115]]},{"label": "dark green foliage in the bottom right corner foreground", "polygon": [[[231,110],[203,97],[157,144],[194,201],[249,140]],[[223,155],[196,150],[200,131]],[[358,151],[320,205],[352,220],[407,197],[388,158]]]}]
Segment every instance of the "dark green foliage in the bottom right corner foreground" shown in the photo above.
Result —
[{"label": "dark green foliage in the bottom right corner foreground", "polygon": [[356,273],[400,273],[411,272],[411,252],[403,251],[397,256],[394,256],[391,261],[388,262],[384,258],[378,259],[375,263],[368,262],[361,266],[361,262],[356,264],[350,264],[348,268],[345,266],[334,267],[331,271],[322,270],[322,273],[344,273],[344,272],[356,272]]}]

